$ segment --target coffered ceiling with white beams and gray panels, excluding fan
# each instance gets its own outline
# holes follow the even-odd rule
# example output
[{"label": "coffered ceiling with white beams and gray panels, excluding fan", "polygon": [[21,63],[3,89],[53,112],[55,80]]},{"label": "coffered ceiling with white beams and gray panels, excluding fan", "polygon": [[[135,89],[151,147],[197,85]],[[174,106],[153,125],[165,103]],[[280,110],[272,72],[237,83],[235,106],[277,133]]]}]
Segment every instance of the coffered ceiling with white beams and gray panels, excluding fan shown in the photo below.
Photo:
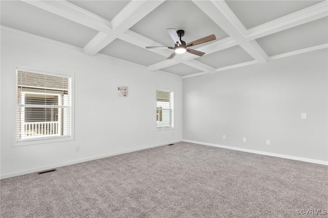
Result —
[{"label": "coffered ceiling with white beams and gray panels, excluding fan", "polygon": [[[1,1],[1,25],[182,78],[328,48],[327,1]],[[167,29],[205,52],[172,54]]]}]

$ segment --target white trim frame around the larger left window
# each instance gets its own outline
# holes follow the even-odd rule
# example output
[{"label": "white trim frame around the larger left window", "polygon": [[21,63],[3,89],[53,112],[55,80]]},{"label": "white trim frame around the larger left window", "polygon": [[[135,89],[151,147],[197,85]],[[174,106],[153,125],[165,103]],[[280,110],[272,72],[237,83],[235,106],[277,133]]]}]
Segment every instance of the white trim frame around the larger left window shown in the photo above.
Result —
[{"label": "white trim frame around the larger left window", "polygon": [[[25,139],[24,141],[18,141],[17,140],[17,113],[16,113],[16,98],[17,98],[17,71],[28,71],[31,73],[44,73],[44,74],[50,74],[54,76],[63,76],[71,77],[71,135],[70,136],[53,136],[53,137],[46,137],[46,138],[38,138],[38,139]],[[70,72],[60,72],[60,71],[54,71],[54,70],[49,70],[49,69],[43,69],[43,68],[38,68],[38,67],[31,67],[31,66],[26,66],[24,64],[13,64],[12,65],[12,84],[13,86],[13,91],[12,91],[12,120],[13,120],[13,125],[12,125],[12,146],[25,146],[25,145],[35,145],[35,144],[45,144],[45,143],[56,143],[56,142],[63,142],[63,141],[72,141],[75,140],[75,119],[74,119],[74,112],[75,112],[75,107],[74,107],[74,102],[75,102],[75,88],[74,88],[74,73]]]}]

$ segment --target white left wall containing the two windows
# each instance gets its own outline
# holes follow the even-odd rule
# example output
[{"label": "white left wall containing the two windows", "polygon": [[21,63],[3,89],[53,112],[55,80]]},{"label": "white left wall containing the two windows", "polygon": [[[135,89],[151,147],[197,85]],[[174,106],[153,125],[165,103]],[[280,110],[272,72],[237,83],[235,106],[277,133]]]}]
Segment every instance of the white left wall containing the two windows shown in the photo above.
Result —
[{"label": "white left wall containing the two windows", "polygon": [[[2,178],[182,139],[182,79],[2,27]],[[12,146],[15,66],[75,74],[75,140]],[[129,86],[128,97],[117,86]],[[156,131],[156,88],[174,91],[175,128]],[[174,136],[173,136],[174,134]],[[80,151],[75,151],[75,145]]]}]

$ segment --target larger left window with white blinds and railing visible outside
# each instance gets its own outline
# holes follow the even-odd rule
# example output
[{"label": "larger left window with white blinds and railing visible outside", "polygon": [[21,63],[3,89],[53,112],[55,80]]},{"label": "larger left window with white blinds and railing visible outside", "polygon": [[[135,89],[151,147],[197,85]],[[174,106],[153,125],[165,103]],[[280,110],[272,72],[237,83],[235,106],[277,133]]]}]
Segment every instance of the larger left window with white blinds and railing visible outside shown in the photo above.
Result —
[{"label": "larger left window with white blinds and railing visible outside", "polygon": [[71,77],[17,70],[16,141],[71,136]]}]

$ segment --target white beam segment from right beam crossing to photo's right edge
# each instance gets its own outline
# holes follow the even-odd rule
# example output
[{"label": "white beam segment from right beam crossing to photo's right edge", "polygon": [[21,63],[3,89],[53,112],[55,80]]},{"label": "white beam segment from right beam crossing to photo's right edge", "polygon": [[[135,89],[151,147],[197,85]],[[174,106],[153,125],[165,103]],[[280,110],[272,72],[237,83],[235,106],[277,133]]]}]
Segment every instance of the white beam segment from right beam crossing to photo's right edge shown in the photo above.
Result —
[{"label": "white beam segment from right beam crossing to photo's right edge", "polygon": [[257,39],[325,16],[328,16],[327,1],[251,28],[247,30],[246,38],[248,40]]}]

